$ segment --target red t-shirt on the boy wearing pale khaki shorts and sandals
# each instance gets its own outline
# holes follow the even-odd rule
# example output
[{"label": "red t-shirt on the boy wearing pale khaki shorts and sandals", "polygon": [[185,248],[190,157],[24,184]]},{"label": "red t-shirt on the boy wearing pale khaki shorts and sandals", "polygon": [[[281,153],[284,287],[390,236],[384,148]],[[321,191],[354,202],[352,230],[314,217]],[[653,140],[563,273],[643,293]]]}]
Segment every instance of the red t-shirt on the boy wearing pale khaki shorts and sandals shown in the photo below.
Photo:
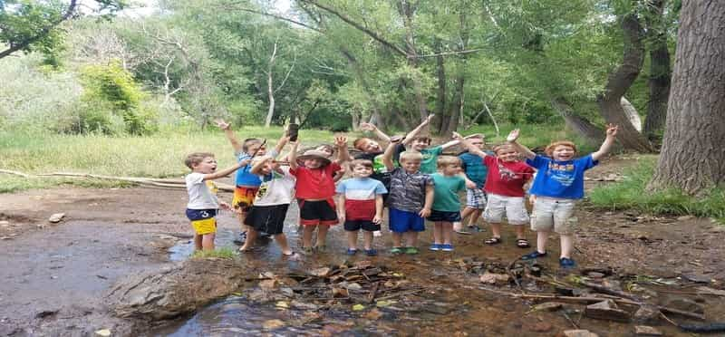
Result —
[{"label": "red t-shirt on the boy wearing pale khaki shorts and sandals", "polygon": [[487,193],[506,197],[524,197],[524,185],[534,176],[534,168],[523,161],[503,161],[494,156],[486,156],[483,165],[488,167]]}]

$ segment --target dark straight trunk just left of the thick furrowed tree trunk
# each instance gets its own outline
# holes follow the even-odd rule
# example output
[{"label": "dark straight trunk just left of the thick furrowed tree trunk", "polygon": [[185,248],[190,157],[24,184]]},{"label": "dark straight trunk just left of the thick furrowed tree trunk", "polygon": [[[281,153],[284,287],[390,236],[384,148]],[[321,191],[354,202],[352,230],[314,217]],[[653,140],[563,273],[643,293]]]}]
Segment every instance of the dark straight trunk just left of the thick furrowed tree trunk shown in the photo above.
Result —
[{"label": "dark straight trunk just left of the thick furrowed tree trunk", "polygon": [[650,51],[650,101],[647,103],[647,117],[644,119],[644,134],[649,140],[664,128],[667,116],[667,100],[670,98],[670,51],[667,49],[667,24],[663,20],[664,0],[651,0],[647,34]]}]

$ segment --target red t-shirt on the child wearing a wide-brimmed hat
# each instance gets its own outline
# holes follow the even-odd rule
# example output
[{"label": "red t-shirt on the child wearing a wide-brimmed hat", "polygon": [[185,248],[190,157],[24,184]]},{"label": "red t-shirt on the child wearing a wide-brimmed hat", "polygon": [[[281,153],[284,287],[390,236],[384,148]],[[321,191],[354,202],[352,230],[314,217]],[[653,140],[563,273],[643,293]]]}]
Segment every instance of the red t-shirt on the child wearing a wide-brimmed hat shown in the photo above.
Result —
[{"label": "red t-shirt on the child wearing a wide-brimmed hat", "polygon": [[300,199],[324,199],[334,196],[334,173],[342,169],[337,163],[324,168],[290,168],[289,173],[297,178],[295,197]]}]

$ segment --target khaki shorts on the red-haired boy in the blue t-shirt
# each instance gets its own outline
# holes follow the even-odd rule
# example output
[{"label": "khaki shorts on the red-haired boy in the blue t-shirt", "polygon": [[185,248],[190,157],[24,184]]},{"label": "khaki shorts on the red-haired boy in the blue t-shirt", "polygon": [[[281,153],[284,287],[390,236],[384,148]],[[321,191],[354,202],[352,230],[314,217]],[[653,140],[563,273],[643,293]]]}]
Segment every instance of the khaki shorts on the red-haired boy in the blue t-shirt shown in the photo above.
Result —
[{"label": "khaki shorts on the red-haired boy in the blue t-shirt", "polygon": [[560,235],[574,234],[578,220],[574,217],[575,199],[538,197],[531,212],[531,230],[554,231]]}]

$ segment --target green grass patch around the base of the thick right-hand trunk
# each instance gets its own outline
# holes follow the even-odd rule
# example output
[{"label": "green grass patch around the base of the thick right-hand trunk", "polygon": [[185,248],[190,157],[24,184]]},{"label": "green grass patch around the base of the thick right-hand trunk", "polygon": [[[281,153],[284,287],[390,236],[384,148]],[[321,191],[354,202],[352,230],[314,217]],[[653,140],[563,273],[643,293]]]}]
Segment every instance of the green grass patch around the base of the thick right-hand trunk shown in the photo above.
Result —
[{"label": "green grass patch around the base of the thick right-hand trunk", "polygon": [[623,181],[594,188],[589,194],[592,205],[608,210],[636,209],[649,214],[713,217],[725,224],[725,189],[713,188],[698,197],[676,188],[647,190],[655,166],[654,158],[640,159],[639,165],[624,172]]}]

